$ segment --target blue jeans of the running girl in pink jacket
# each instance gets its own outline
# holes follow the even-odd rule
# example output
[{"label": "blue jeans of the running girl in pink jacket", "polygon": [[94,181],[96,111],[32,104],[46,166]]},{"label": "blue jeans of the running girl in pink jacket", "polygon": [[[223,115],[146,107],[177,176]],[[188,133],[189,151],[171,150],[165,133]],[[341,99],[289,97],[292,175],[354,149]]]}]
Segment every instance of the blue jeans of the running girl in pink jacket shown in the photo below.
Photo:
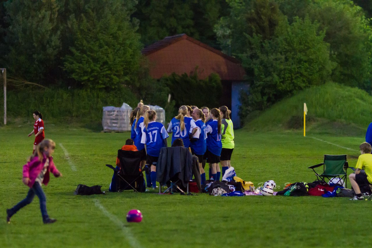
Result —
[{"label": "blue jeans of the running girl in pink jacket", "polygon": [[36,196],[39,197],[40,201],[40,210],[41,210],[41,215],[43,219],[48,219],[48,213],[47,213],[47,199],[45,198],[44,191],[41,187],[41,185],[38,182],[35,182],[32,186],[32,188],[28,191],[27,196],[25,199],[17,203],[14,207],[10,209],[12,215],[14,215],[16,212],[18,212],[19,209],[22,207],[30,204],[33,200],[33,197]]}]

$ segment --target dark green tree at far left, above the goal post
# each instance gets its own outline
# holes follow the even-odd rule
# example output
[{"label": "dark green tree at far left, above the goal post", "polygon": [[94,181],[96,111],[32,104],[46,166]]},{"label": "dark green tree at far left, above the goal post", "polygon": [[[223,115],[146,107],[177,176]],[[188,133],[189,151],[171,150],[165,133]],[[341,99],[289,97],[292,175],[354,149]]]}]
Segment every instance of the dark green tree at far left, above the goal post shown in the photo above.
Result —
[{"label": "dark green tree at far left, above the goal post", "polygon": [[7,1],[4,64],[10,74],[29,81],[48,79],[61,49],[55,0]]}]

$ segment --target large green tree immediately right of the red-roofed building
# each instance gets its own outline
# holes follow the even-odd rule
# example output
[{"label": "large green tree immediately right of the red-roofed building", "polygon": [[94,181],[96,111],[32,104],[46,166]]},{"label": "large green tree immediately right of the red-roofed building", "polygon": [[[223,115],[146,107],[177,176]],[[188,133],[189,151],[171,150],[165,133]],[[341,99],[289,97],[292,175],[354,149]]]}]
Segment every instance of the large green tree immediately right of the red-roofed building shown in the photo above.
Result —
[{"label": "large green tree immediately right of the red-roofed building", "polygon": [[263,110],[283,97],[311,85],[325,83],[335,63],[319,24],[298,17],[290,25],[280,22],[272,39],[247,35],[251,47],[242,54],[243,66],[252,68],[253,81],[245,106]]}]

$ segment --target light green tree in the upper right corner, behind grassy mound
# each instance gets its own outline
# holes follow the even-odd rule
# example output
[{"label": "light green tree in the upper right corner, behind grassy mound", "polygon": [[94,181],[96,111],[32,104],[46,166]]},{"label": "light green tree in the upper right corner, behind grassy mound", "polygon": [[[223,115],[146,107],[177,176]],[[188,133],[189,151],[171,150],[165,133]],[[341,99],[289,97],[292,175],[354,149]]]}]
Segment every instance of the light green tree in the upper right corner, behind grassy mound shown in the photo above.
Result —
[{"label": "light green tree in the upper right corner, behind grassy mound", "polygon": [[308,15],[325,30],[324,41],[337,63],[332,79],[370,90],[372,32],[362,9],[347,0],[316,0]]}]

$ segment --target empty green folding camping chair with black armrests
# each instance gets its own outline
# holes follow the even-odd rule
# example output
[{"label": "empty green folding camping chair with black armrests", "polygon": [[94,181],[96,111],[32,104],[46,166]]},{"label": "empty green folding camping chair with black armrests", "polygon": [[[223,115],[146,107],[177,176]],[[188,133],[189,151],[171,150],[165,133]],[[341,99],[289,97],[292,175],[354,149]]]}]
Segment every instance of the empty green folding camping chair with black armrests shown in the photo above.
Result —
[{"label": "empty green folding camping chair with black armrests", "polygon": [[[323,173],[318,174],[315,171],[315,168],[318,168],[323,165]],[[345,182],[345,187],[347,187],[346,180],[346,170],[349,168],[349,163],[346,161],[346,155],[327,155],[324,154],[324,162],[321,164],[316,164],[308,167],[312,169],[317,176],[317,180],[325,182],[325,178],[331,180],[334,177],[339,177],[339,180],[336,183],[342,185],[341,180]],[[334,180],[332,180],[333,183]]]}]

